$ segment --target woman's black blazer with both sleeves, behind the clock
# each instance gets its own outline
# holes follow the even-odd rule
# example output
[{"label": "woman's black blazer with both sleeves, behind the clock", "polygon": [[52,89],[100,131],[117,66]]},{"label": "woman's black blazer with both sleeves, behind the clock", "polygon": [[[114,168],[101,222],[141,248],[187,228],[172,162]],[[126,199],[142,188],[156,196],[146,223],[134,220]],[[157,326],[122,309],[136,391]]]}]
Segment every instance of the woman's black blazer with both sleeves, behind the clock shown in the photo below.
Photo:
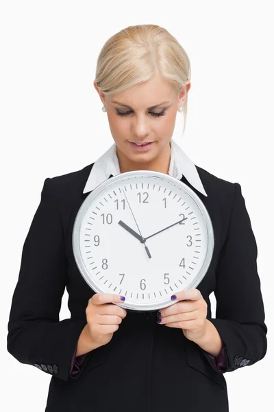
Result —
[{"label": "woman's black blazer with both sleeves, behind the clock", "polygon": [[[95,293],[79,273],[72,249],[73,222],[88,196],[83,190],[93,165],[45,179],[23,244],[8,352],[51,374],[47,412],[229,411],[225,373],[250,367],[266,354],[257,246],[240,185],[197,166],[208,196],[184,176],[182,181],[206,205],[214,227],[212,261],[197,289],[225,343],[227,372],[217,371],[210,356],[182,330],[156,323],[157,311],[128,311],[110,343],[89,352],[79,374],[70,376],[88,299]],[[60,321],[64,288],[71,318]],[[211,317],[212,292],[216,319]]]}]

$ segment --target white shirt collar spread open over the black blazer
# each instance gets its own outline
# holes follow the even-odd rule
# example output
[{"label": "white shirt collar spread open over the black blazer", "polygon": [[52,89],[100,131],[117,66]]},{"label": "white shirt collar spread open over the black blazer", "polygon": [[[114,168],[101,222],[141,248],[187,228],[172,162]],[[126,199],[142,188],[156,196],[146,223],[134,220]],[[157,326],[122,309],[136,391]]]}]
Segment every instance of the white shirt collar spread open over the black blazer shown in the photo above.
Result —
[{"label": "white shirt collar spread open over the black blazer", "polygon": [[[103,181],[109,179],[110,175],[116,176],[120,174],[120,165],[116,153],[116,143],[112,144],[110,148],[95,161],[90,175],[86,181],[83,193],[90,192],[95,189]],[[176,179],[181,180],[185,176],[186,180],[195,187],[201,194],[208,196],[204,190],[203,183],[197,172],[195,164],[186,155],[174,139],[171,139],[171,161],[169,165],[169,174]]]}]

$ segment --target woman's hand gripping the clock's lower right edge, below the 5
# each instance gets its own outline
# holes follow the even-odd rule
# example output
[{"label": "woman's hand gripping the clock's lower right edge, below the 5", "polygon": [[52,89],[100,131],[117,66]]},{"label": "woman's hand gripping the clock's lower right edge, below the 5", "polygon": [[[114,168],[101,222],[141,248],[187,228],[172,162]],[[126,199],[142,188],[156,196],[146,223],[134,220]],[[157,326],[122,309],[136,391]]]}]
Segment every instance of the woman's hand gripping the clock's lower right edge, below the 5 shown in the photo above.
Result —
[{"label": "woman's hand gripping the clock's lower right edge, below the 5", "polygon": [[159,324],[182,329],[188,340],[197,343],[208,328],[208,304],[198,289],[182,290],[176,296],[176,304],[160,309],[162,321]]}]

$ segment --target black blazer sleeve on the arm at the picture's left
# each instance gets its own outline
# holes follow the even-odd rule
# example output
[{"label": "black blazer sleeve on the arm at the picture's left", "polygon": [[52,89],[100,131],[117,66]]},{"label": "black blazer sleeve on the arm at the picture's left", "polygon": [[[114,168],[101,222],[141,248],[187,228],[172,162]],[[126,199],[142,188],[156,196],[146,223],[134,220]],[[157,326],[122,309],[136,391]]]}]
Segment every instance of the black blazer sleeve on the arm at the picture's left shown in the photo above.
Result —
[{"label": "black blazer sleeve on the arm at the picture's left", "polygon": [[23,244],[7,347],[19,362],[66,381],[86,319],[59,320],[67,269],[59,213],[53,181],[47,178]]}]

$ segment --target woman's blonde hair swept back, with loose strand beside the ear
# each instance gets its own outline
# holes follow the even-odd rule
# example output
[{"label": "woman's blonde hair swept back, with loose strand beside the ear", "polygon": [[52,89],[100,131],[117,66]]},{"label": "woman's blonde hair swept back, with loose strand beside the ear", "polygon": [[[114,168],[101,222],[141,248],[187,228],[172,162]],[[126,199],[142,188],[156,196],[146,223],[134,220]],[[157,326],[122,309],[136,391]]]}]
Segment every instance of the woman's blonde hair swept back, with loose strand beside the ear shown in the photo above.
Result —
[{"label": "woman's blonde hair swept back, with loose strand beside the ear", "polygon": [[[190,60],[178,41],[164,27],[128,26],[103,45],[97,58],[95,82],[105,95],[120,93],[160,74],[179,93],[190,80]],[[184,102],[186,127],[188,96]]]}]

